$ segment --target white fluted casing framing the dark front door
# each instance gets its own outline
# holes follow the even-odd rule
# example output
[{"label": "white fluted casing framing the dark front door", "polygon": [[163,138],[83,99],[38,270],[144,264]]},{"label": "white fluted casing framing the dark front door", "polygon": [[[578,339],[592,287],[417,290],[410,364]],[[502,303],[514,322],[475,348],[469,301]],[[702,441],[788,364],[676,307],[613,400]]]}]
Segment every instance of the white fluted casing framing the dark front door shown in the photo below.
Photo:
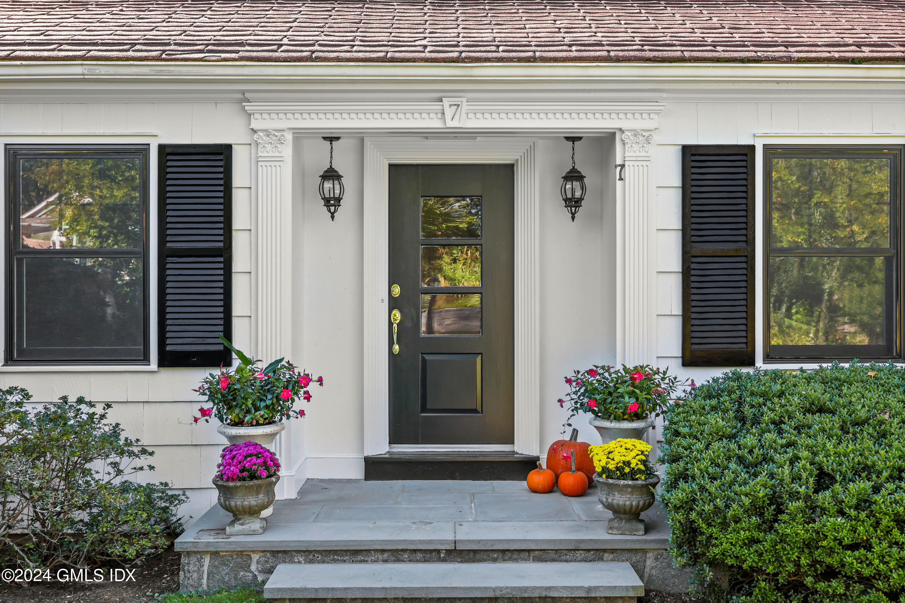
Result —
[{"label": "white fluted casing framing the dark front door", "polygon": [[388,166],[393,163],[499,163],[515,167],[515,449],[540,453],[538,343],[539,207],[533,138],[412,140],[365,138],[364,452],[389,449]]}]

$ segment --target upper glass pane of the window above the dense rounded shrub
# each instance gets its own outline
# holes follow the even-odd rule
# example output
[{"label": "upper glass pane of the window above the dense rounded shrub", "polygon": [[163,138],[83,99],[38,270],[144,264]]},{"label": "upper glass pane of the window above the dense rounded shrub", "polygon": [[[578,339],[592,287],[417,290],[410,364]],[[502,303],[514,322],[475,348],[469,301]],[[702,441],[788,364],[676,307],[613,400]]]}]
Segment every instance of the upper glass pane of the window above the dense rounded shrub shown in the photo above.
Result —
[{"label": "upper glass pane of the window above the dense rounded shrub", "polygon": [[774,157],[773,247],[889,247],[891,159]]}]

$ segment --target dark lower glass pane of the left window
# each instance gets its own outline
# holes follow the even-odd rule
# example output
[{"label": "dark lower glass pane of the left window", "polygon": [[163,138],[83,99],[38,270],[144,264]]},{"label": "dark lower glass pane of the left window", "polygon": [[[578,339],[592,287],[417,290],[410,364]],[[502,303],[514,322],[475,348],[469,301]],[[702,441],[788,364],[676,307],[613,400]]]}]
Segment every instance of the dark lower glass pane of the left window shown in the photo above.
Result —
[{"label": "dark lower glass pane of the left window", "polygon": [[138,258],[23,260],[18,338],[25,358],[140,359],[144,278]]}]

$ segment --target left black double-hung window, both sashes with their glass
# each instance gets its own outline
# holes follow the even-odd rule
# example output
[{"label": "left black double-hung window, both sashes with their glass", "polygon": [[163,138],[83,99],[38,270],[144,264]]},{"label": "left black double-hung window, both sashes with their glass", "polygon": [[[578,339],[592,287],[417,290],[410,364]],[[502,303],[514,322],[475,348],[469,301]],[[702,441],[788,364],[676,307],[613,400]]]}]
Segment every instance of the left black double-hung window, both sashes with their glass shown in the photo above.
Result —
[{"label": "left black double-hung window, both sashes with their glass", "polygon": [[14,150],[15,360],[147,360],[147,148]]}]

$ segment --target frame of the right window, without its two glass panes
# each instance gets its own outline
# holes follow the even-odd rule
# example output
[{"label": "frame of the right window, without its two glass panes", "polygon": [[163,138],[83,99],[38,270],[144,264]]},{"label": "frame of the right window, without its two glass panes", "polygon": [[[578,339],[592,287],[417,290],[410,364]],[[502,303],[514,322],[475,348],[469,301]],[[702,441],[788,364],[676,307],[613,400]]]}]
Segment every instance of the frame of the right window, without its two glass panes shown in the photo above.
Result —
[{"label": "frame of the right window, without its two glass panes", "polygon": [[[871,361],[901,361],[903,348],[902,333],[902,300],[903,291],[903,264],[902,253],[905,252],[905,216],[902,208],[902,182],[905,177],[902,155],[905,146],[900,145],[765,145],[763,147],[763,362],[768,363],[823,363],[834,360],[851,361],[855,358]],[[883,155],[883,154],[890,155]],[[773,178],[772,160],[776,156],[792,158],[810,158],[824,156],[827,158],[843,158],[872,155],[874,157],[890,156],[892,167],[891,181],[891,205],[890,205],[890,248],[771,248],[771,235],[773,232]],[[770,259],[776,257],[891,257],[892,266],[887,269],[887,283],[885,297],[891,308],[887,311],[887,319],[891,325],[886,325],[889,344],[870,346],[885,347],[881,353],[865,353],[867,345],[773,345],[775,352],[771,355],[770,344]],[[798,348],[788,350],[788,353],[780,355],[776,348]],[[796,352],[796,353],[793,353]],[[811,353],[807,353],[811,352]]]}]

